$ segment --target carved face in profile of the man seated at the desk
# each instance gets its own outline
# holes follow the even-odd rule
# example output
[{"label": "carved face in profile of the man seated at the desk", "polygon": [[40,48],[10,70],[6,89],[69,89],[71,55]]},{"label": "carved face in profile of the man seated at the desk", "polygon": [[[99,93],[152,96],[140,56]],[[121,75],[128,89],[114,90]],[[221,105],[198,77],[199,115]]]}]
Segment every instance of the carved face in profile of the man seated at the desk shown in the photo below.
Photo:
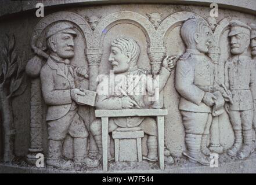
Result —
[{"label": "carved face in profile of the man seated at the desk", "polygon": [[123,54],[118,47],[111,46],[109,62],[111,63],[114,73],[123,73],[129,69],[129,53]]}]

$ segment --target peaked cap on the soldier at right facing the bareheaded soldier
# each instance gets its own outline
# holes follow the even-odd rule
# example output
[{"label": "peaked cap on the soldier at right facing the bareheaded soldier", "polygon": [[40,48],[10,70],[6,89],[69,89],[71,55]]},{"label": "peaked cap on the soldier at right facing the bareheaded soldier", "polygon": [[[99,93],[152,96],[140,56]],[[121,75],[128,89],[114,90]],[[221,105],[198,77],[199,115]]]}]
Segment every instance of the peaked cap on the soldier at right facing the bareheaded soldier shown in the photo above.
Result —
[{"label": "peaked cap on the soldier at right facing the bareheaded soldier", "polygon": [[233,36],[237,34],[248,34],[250,35],[251,28],[240,21],[232,20],[229,22],[231,28],[228,36]]}]

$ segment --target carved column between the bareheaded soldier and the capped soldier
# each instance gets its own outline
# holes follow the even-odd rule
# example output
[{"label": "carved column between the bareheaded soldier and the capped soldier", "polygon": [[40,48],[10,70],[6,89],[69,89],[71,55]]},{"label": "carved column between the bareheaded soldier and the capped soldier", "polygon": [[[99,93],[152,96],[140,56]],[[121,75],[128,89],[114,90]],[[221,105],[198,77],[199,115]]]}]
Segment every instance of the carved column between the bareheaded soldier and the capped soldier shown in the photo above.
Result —
[{"label": "carved column between the bareheaded soldier and the capped soldier", "polygon": [[[219,48],[217,46],[212,46],[209,49],[208,56],[214,62],[215,68],[215,82],[219,84],[219,76],[218,76],[218,65],[219,65]],[[215,153],[222,153],[223,147],[219,142],[219,116],[212,117],[212,124],[210,128],[210,146],[209,149]]]}]

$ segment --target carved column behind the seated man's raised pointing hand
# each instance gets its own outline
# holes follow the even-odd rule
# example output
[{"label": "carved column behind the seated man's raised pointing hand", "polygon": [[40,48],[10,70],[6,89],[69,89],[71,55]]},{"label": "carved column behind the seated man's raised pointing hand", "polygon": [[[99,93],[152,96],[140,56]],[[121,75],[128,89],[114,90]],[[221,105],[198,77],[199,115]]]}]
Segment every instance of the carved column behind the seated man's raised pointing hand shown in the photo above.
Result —
[{"label": "carved column behind the seated man's raised pointing hand", "polygon": [[[165,56],[165,47],[150,47],[147,50],[149,55],[151,72],[152,75],[158,75],[162,66],[163,58]],[[155,101],[152,105],[154,109],[161,109],[164,106],[163,101],[163,90],[159,92],[159,99]]]}]

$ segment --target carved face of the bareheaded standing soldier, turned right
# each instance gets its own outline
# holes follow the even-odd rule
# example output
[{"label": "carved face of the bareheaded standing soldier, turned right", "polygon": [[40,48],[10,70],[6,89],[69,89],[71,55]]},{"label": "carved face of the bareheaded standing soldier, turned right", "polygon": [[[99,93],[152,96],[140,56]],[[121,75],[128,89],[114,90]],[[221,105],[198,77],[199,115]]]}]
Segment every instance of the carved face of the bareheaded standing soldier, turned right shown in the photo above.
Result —
[{"label": "carved face of the bareheaded standing soldier, turned right", "polygon": [[196,41],[196,49],[199,50],[201,53],[207,53],[208,47],[210,45],[210,28],[204,27],[200,34],[195,34],[195,41]]}]

